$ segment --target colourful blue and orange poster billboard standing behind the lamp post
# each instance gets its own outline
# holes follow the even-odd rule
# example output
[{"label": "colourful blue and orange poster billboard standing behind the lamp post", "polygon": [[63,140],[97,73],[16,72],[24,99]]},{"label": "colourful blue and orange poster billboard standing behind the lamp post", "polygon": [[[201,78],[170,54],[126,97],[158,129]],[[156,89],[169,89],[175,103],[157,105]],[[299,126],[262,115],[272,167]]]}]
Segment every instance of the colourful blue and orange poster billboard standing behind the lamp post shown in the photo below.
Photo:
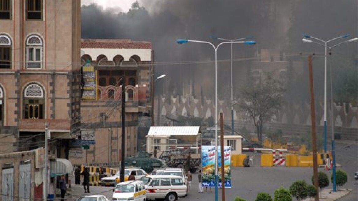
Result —
[{"label": "colourful blue and orange poster billboard standing behind the lamp post", "polygon": [[[221,151],[218,146],[218,186],[221,187]],[[225,187],[231,188],[231,147],[224,146]],[[215,187],[215,146],[202,147],[203,187]]]}]

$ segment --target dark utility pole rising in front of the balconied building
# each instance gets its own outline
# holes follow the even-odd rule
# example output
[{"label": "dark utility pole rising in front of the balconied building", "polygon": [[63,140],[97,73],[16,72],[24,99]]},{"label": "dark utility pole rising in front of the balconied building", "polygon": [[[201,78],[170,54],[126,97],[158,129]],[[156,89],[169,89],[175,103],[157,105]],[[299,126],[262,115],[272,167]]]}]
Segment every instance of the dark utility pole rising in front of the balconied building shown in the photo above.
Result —
[{"label": "dark utility pole rising in front of the balconied building", "polygon": [[126,149],[126,78],[122,77],[122,139],[121,139],[121,170],[120,170],[120,180],[124,182],[124,158],[125,158],[125,149]]}]

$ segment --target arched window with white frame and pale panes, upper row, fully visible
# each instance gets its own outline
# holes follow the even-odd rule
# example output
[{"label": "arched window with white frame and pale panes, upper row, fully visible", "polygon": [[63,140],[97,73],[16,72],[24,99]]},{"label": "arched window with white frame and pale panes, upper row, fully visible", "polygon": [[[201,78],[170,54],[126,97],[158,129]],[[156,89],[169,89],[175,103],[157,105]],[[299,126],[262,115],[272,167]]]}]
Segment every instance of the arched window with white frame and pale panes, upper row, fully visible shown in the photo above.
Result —
[{"label": "arched window with white frame and pale panes, upper row, fully visible", "polygon": [[38,35],[30,35],[26,40],[26,68],[42,68],[43,43]]}]

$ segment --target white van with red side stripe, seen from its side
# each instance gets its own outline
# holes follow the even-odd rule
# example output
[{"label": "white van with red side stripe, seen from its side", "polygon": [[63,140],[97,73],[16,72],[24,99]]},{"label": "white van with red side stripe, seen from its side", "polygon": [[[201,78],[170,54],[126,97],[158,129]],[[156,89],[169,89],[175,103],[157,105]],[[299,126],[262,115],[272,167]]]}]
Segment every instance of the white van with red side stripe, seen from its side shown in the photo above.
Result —
[{"label": "white van with red side stripe, seen from its side", "polygon": [[187,185],[183,177],[174,175],[147,175],[142,177],[148,200],[165,198],[175,201],[187,195]]}]

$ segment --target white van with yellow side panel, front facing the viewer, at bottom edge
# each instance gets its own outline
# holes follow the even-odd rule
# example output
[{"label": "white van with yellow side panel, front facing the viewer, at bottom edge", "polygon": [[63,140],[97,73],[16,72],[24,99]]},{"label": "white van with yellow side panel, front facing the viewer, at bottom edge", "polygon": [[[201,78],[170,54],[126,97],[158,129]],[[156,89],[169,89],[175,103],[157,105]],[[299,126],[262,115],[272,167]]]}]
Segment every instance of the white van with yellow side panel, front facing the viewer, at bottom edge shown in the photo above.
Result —
[{"label": "white van with yellow side panel, front facing the viewer, at bottom edge", "polygon": [[142,181],[125,181],[118,183],[113,190],[112,201],[146,201],[144,183]]}]

